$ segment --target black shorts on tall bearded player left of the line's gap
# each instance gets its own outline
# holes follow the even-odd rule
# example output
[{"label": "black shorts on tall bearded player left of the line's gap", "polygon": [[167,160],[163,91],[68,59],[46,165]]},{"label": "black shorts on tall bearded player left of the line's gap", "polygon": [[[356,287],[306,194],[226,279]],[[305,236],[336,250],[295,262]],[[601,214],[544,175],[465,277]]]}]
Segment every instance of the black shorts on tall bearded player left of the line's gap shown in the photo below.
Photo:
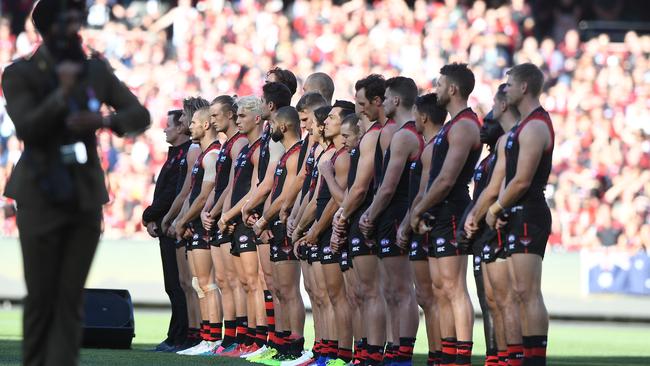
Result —
[{"label": "black shorts on tall bearded player left of the line's gap", "polygon": [[465,208],[470,201],[445,201],[433,207],[429,213],[433,216],[433,228],[430,235],[429,256],[435,258],[453,257],[471,254],[471,247],[461,250],[456,238]]}]

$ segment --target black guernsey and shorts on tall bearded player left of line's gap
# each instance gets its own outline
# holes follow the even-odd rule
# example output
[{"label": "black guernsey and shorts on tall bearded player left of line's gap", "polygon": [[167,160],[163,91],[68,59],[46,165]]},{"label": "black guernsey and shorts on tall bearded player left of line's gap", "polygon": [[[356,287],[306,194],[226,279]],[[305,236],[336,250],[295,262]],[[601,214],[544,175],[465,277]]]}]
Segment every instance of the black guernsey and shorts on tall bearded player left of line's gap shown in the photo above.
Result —
[{"label": "black guernsey and shorts on tall bearded player left of line's gap", "polygon": [[[447,157],[447,152],[449,151],[449,131],[462,119],[472,120],[477,126],[481,126],[476,113],[471,108],[460,111],[451,121],[442,126],[433,139],[431,170],[429,171],[427,189],[431,188],[431,184],[438,177],[438,174],[440,174],[445,158]],[[470,151],[447,197],[429,211],[431,216],[435,218],[433,229],[429,234],[430,257],[449,257],[469,254],[461,250],[458,246],[456,230],[458,229],[458,224],[465,209],[471,202],[469,197],[469,182],[474,175],[474,167],[481,155],[481,150],[482,146],[479,144]]]}]

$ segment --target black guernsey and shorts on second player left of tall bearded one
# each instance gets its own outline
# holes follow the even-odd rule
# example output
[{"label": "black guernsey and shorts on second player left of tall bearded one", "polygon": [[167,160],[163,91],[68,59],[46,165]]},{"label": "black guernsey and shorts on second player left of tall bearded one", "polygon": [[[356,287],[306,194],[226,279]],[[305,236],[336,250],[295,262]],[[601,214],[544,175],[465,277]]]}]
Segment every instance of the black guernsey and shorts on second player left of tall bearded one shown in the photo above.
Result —
[{"label": "black guernsey and shorts on second player left of tall bearded one", "polygon": [[[407,159],[400,174],[399,182],[395,187],[395,193],[390,200],[386,209],[377,218],[377,243],[379,243],[379,258],[395,257],[405,254],[404,250],[397,246],[397,228],[404,219],[406,212],[409,208],[409,178],[410,166],[420,159],[420,154],[424,148],[424,139],[422,134],[415,128],[415,122],[406,122],[398,131],[409,131],[415,135],[418,140],[418,153]],[[383,160],[382,180],[386,175],[386,170],[390,163],[391,147],[386,149],[386,154]]]}]

